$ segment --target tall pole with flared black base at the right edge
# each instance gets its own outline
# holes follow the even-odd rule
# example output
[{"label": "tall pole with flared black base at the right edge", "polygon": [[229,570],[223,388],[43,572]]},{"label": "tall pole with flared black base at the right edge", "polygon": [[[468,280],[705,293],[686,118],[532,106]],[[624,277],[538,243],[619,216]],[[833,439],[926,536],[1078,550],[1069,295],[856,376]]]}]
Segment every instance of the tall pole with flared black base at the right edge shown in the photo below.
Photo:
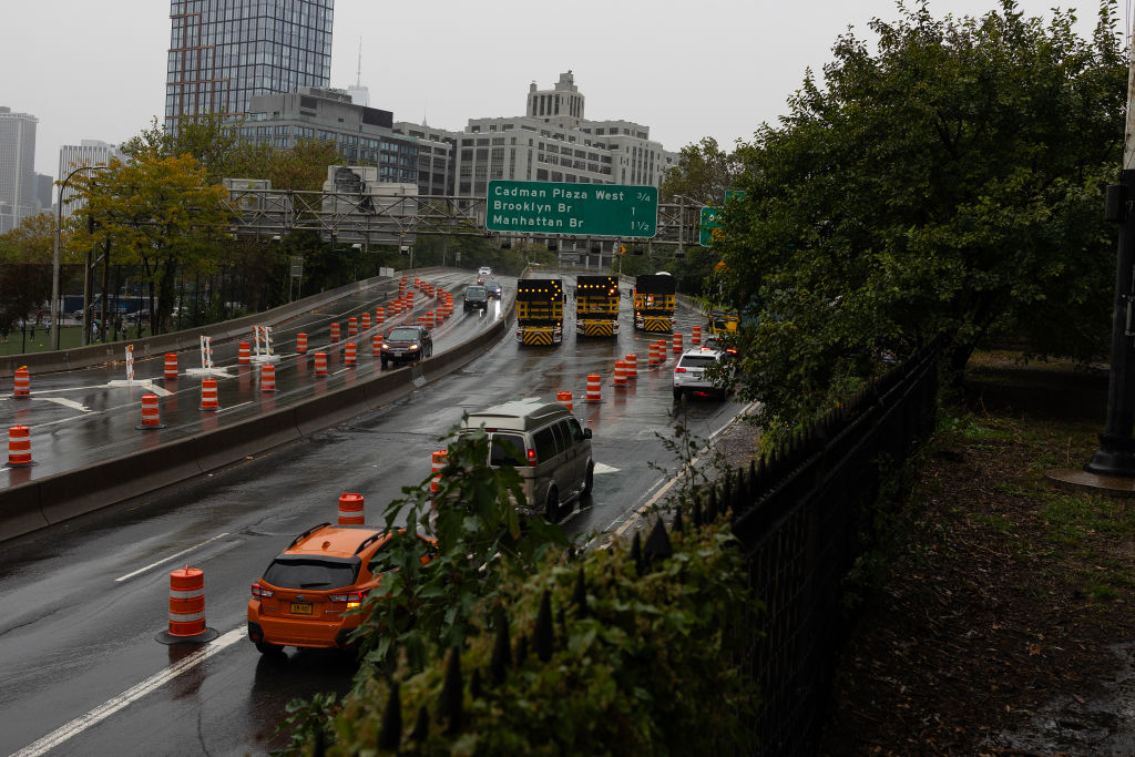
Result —
[{"label": "tall pole with flared black base at the right edge", "polygon": [[1118,221],[1116,295],[1111,319],[1111,373],[1108,381],[1108,426],[1100,448],[1084,470],[1099,476],[1135,478],[1135,57],[1127,67],[1127,125],[1119,184],[1108,186],[1104,216]]}]

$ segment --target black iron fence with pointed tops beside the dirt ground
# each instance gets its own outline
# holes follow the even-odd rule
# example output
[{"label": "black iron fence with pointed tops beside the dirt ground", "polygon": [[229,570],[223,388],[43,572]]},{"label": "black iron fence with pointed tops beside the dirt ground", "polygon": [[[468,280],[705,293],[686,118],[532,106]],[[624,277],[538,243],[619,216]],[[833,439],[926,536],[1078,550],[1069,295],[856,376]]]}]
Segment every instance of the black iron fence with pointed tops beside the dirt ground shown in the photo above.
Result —
[{"label": "black iron fence with pointed tops beside the dirt ground", "polygon": [[886,474],[933,431],[936,396],[936,352],[926,350],[708,493],[732,512],[753,590],[765,604],[751,661],[763,754],[816,751],[846,625],[844,578]]}]

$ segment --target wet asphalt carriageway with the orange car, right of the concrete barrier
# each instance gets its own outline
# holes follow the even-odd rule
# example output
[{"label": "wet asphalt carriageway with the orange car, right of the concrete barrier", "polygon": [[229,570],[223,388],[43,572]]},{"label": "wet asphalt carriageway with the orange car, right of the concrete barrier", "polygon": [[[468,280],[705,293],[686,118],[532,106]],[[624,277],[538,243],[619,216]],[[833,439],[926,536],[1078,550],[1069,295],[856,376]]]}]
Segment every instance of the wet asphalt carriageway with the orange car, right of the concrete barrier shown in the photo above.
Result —
[{"label": "wet asphalt carriageway with the orange car, right of the concrete barrier", "polygon": [[[657,337],[636,333],[629,310],[624,300],[617,340],[577,339],[571,318],[560,347],[520,347],[506,331],[465,368],[375,412],[0,544],[0,752],[259,755],[281,746],[274,733],[287,701],[345,691],[354,664],[294,649],[261,658],[245,634],[250,584],[294,535],[334,521],[344,491],[362,494],[368,521],[378,522],[402,487],[427,479],[431,452],[463,411],[571,390],[595,435],[597,470],[594,496],[563,527],[580,540],[621,528],[666,483],[651,463],[676,464],[663,443],[675,424],[673,353],[648,368]],[[454,338],[495,317],[459,310]],[[679,330],[695,323],[700,317],[680,312]],[[616,390],[613,361],[630,352],[639,378]],[[592,372],[605,377],[603,402],[585,404]],[[696,401],[684,422],[708,438],[740,410]],[[219,638],[166,646],[155,637],[167,624],[169,571],[186,564],[204,571],[208,624]]]}]

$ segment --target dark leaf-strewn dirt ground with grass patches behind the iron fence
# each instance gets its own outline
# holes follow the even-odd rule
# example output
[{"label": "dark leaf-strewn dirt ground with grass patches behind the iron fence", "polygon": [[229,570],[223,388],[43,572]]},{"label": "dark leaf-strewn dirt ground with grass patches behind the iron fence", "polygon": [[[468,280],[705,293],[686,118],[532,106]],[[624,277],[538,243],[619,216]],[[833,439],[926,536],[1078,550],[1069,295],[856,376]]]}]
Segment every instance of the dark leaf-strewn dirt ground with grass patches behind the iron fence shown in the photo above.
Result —
[{"label": "dark leaf-strewn dirt ground with grass patches behind the iron fence", "polygon": [[975,360],[888,515],[824,755],[1135,754],[1135,499],[1044,477],[1098,448],[1107,373],[1014,360]]}]

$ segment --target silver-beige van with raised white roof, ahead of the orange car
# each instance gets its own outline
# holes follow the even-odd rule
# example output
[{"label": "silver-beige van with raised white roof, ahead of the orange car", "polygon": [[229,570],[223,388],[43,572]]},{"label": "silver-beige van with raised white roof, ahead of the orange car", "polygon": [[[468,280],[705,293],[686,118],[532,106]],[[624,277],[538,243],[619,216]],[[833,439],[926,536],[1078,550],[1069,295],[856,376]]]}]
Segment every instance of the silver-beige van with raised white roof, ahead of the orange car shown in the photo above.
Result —
[{"label": "silver-beige van with raised white roof, ahead of the orange car", "polygon": [[558,402],[526,397],[486,407],[469,414],[463,432],[478,428],[489,437],[489,464],[512,465],[524,480],[524,514],[555,523],[562,503],[591,494],[591,429]]}]

